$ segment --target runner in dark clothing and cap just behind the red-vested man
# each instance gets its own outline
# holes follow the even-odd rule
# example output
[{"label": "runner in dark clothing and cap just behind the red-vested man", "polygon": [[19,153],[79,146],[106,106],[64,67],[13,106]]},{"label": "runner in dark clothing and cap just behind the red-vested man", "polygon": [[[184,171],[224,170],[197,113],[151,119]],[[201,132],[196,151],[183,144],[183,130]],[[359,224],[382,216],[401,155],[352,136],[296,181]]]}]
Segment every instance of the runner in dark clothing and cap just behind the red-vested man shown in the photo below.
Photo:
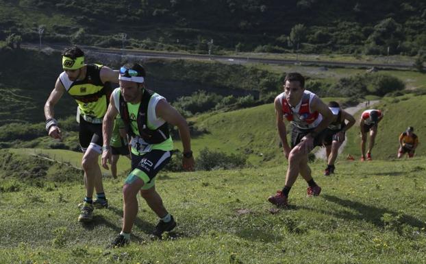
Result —
[{"label": "runner in dark clothing and cap just behind the red-vested man", "polygon": [[[324,175],[329,176],[334,173],[334,162],[336,161],[340,145],[344,141],[344,134],[355,124],[355,118],[349,112],[340,108],[336,101],[330,101],[328,104],[331,112],[333,113],[333,121],[326,128],[326,136],[324,139],[325,151],[327,152],[327,168],[325,168]],[[348,121],[346,123],[345,121]]]}]

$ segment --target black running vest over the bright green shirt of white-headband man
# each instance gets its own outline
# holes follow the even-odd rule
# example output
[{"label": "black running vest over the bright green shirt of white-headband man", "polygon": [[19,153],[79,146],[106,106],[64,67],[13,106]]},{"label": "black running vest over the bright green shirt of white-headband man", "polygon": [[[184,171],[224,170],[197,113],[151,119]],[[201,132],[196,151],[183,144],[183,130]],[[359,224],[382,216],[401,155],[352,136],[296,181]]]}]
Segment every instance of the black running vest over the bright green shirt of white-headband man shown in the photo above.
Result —
[{"label": "black running vest over the bright green shirt of white-headband man", "polygon": [[167,122],[164,122],[162,125],[160,125],[160,127],[155,130],[151,130],[148,128],[148,105],[149,100],[154,94],[155,93],[149,89],[145,89],[145,91],[143,92],[142,99],[139,104],[138,116],[136,117],[136,123],[138,124],[138,134],[136,134],[136,132],[134,132],[131,128],[129,109],[127,108],[127,102],[124,101],[124,98],[121,93],[118,106],[121,119],[123,120],[127,133],[132,137],[140,136],[146,143],[149,144],[162,143],[170,137]]}]

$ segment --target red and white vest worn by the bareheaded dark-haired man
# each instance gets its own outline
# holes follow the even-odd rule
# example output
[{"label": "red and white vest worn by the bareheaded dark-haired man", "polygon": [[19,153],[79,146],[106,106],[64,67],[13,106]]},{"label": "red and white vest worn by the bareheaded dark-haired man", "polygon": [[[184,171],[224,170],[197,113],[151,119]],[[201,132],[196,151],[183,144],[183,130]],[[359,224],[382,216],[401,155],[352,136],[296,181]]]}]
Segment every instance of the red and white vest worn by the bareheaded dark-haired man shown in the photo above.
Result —
[{"label": "red and white vest worn by the bareheaded dark-haired man", "polygon": [[[288,104],[285,93],[278,95],[278,97],[280,97],[279,99],[281,101],[281,108],[284,113],[284,117],[286,117],[286,119],[297,128],[316,128],[316,126],[318,126],[318,124],[323,120],[323,116],[318,111],[311,112],[310,110],[310,102],[314,96],[314,93],[305,90],[299,104],[292,108],[290,104]],[[298,108],[299,110],[297,110]]]}]

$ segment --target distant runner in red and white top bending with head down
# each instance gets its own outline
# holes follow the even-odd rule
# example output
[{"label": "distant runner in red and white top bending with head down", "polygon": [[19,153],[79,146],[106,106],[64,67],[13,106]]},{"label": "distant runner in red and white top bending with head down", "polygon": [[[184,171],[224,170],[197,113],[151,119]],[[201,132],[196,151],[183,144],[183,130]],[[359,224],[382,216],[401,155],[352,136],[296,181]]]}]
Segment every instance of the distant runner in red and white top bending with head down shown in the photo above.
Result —
[{"label": "distant runner in red and white top bending with head down", "polygon": [[[377,125],[383,119],[381,110],[371,109],[362,112],[360,118],[361,130],[361,160],[371,160],[371,150],[374,147],[377,135]],[[370,143],[368,144],[367,156],[365,156],[365,144],[367,141],[367,133],[370,132]]]}]

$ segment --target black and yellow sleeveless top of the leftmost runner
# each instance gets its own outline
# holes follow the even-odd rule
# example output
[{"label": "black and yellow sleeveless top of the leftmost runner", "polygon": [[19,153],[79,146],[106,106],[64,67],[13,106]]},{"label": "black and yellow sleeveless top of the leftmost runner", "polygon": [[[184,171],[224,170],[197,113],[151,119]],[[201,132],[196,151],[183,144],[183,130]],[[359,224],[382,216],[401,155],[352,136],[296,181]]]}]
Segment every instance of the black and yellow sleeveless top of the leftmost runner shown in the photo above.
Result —
[{"label": "black and yellow sleeveless top of the leftmost runner", "polygon": [[102,123],[112,91],[109,82],[101,81],[101,68],[102,65],[87,64],[84,80],[75,82],[65,72],[59,75],[60,82],[77,102],[80,114],[90,123]]}]

